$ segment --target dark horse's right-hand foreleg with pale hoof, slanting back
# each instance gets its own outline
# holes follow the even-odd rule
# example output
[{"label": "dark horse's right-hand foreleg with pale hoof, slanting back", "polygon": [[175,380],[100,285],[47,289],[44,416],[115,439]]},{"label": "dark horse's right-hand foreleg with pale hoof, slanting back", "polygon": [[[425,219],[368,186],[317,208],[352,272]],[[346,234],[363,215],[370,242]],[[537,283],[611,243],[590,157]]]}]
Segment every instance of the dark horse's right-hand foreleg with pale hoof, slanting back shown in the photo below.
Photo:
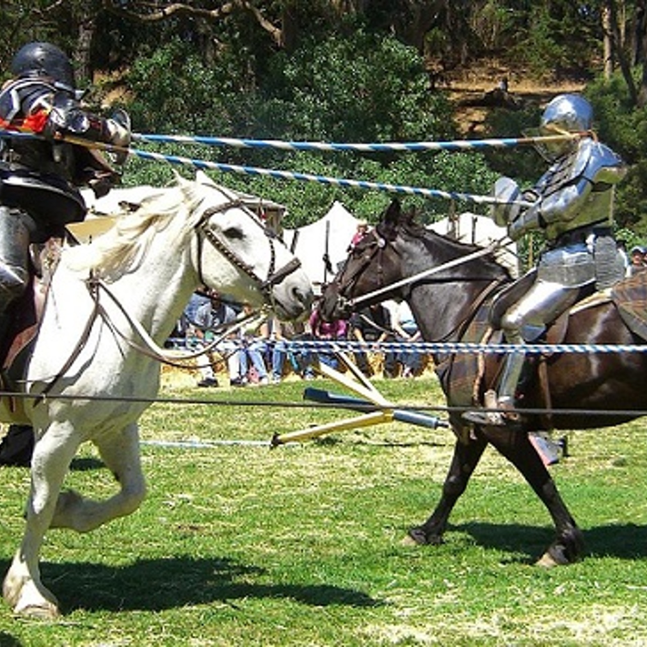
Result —
[{"label": "dark horse's right-hand foreleg with pale hoof, slanting back", "polygon": [[553,518],[556,537],[537,564],[551,567],[576,562],[584,550],[582,531],[577,527],[528,434],[492,428],[485,433],[488,441],[523,474]]}]

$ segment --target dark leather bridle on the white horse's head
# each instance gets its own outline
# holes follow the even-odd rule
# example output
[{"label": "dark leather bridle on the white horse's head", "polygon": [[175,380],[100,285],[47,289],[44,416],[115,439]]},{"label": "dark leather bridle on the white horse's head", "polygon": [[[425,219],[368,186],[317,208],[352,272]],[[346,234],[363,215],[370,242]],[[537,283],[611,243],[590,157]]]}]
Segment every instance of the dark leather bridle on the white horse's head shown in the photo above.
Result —
[{"label": "dark leather bridle on the white horse's head", "polygon": [[[243,259],[239,258],[232,250],[223,243],[219,237],[217,237],[214,232],[208,227],[208,223],[212,215],[214,214],[222,214],[229,209],[233,208],[239,208],[241,209],[245,214],[248,215],[254,222],[259,225],[261,228],[263,228],[263,231],[265,232],[265,236],[267,236],[267,239],[269,241],[270,245],[270,267],[267,270],[267,278],[263,279],[258,274],[256,274],[256,271],[254,270],[254,267],[250,265],[249,263],[245,263]],[[274,288],[275,285],[279,285],[281,281],[283,281],[287,276],[292,274],[292,272],[295,272],[301,267],[301,261],[296,258],[291,259],[288,263],[283,265],[280,269],[276,270],[276,247],[274,245],[274,240],[276,239],[276,236],[274,232],[272,232],[269,228],[264,226],[262,223],[258,221],[256,216],[250,212],[248,207],[241,201],[240,199],[236,200],[230,200],[224,204],[219,204],[218,206],[212,206],[208,208],[207,210],[204,211],[203,215],[200,218],[199,223],[196,226],[196,230],[201,232],[204,235],[204,238],[208,240],[225,258],[232,263],[232,265],[236,266],[239,270],[242,270],[249,276],[257,285],[259,290],[263,293],[265,298],[270,301],[272,300],[272,288]],[[199,240],[199,246],[201,245],[202,242],[202,237],[198,236]],[[202,272],[202,249],[199,248],[198,250],[198,274],[200,277],[200,280],[202,283],[204,283],[203,280],[203,272]]]}]

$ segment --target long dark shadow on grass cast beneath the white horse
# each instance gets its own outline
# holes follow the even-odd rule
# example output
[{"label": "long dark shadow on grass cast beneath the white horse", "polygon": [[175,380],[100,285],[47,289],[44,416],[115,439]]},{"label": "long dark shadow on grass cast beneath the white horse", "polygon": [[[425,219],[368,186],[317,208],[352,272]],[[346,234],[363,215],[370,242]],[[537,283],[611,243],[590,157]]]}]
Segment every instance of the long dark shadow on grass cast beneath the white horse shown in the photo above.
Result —
[{"label": "long dark shadow on grass cast beneath the white horse", "polygon": [[362,591],[331,584],[259,581],[265,578],[265,569],[230,558],[178,556],[137,560],[124,567],[45,562],[41,572],[46,586],[56,582],[56,597],[67,613],[74,609],[161,611],[216,601],[236,607],[236,600],[245,598],[285,598],[311,606],[366,608],[383,604]]}]

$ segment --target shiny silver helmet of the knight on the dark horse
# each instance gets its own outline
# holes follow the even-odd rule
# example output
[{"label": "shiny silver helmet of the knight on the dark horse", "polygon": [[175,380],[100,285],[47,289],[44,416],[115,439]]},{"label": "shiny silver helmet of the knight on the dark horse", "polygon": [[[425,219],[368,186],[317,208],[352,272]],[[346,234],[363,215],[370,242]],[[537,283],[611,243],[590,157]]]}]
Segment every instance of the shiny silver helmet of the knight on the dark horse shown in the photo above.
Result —
[{"label": "shiny silver helmet of the knight on the dark horse", "polygon": [[[579,94],[558,94],[545,107],[540,122],[542,135],[559,135],[560,133],[584,133],[593,125],[593,108]],[[575,140],[543,142],[544,157],[554,160],[568,153],[575,146]]]}]

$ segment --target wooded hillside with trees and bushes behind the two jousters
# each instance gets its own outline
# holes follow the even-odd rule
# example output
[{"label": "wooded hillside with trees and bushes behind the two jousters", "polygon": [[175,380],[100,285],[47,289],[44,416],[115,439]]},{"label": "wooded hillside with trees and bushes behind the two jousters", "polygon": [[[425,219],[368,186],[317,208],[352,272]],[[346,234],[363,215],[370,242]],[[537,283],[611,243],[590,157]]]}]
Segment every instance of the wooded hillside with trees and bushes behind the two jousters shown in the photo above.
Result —
[{"label": "wooded hillside with trees and bushes behind the two jousters", "polygon": [[[616,218],[647,240],[647,17],[642,1],[32,0],[0,3],[0,69],[23,43],[67,50],[86,101],[125,107],[139,133],[329,142],[520,137],[562,91],[591,100],[602,141],[630,164]],[[505,79],[507,93],[496,88]],[[489,193],[501,174],[534,182],[531,148],[470,153],[285,153],[141,144],[263,168]],[[177,168],[176,168],[177,170]],[[186,175],[190,168],[181,168]],[[289,207],[287,226],[334,200],[375,220],[391,195],[213,174]],[[160,184],[162,162],[129,160],[124,184]],[[471,202],[407,197],[424,221]]]}]

